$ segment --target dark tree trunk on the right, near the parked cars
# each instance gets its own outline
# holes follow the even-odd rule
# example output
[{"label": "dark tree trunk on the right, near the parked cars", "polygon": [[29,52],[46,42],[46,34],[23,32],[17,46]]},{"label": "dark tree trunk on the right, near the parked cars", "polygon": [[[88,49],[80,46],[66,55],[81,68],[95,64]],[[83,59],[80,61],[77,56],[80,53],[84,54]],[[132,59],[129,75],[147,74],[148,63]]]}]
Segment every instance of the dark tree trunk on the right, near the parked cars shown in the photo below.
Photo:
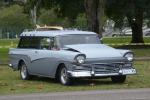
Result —
[{"label": "dark tree trunk on the right, near the parked cars", "polygon": [[129,24],[132,29],[132,41],[131,43],[144,43],[143,41],[143,11],[141,9],[136,9],[135,17],[132,18],[127,16]]}]

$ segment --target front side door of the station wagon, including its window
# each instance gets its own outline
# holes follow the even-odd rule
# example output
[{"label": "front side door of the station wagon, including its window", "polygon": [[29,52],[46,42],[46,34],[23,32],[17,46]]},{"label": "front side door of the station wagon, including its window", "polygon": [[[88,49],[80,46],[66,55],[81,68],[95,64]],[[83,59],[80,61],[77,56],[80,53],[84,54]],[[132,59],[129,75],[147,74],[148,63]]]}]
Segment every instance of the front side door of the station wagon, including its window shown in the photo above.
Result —
[{"label": "front side door of the station wagon, including its window", "polygon": [[33,52],[35,59],[32,60],[30,65],[32,73],[44,76],[50,75],[53,66],[55,66],[55,62],[53,60],[53,46],[53,37],[46,37],[40,40],[40,49],[35,50],[35,52]]}]

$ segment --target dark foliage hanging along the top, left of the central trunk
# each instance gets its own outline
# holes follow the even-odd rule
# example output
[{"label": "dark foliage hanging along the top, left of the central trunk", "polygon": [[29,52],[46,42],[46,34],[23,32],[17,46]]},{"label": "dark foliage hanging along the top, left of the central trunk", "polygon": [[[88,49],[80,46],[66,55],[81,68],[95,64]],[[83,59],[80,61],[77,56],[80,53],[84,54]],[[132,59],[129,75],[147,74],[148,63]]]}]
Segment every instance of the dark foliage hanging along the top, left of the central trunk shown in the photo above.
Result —
[{"label": "dark foliage hanging along the top, left of the central trunk", "polygon": [[67,18],[71,25],[75,24],[78,14],[85,11],[84,0],[27,0],[25,12],[30,13],[37,4],[37,17],[40,9],[54,9],[58,18]]}]

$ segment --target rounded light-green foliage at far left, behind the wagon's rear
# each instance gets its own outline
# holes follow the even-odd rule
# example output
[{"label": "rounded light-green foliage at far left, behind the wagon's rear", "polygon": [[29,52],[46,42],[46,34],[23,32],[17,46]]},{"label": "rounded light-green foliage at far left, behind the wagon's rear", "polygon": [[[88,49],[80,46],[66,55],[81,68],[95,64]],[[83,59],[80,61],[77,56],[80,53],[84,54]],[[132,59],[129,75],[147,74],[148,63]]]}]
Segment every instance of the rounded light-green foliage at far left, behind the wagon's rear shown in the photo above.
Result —
[{"label": "rounded light-green foliage at far left, behind the wagon's rear", "polygon": [[29,17],[23,13],[23,8],[13,5],[0,10],[0,28],[5,32],[20,33],[31,27]]}]

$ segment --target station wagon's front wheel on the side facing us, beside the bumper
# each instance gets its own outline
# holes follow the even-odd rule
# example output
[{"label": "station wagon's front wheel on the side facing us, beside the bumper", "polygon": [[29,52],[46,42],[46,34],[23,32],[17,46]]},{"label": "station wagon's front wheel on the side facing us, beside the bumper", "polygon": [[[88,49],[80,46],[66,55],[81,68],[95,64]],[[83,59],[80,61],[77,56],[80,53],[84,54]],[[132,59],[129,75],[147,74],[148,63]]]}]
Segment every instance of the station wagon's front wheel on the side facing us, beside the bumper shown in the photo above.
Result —
[{"label": "station wagon's front wheel on the side facing us, beside the bumper", "polygon": [[59,81],[63,85],[70,85],[71,84],[71,78],[68,76],[67,68],[61,67],[59,70]]}]

